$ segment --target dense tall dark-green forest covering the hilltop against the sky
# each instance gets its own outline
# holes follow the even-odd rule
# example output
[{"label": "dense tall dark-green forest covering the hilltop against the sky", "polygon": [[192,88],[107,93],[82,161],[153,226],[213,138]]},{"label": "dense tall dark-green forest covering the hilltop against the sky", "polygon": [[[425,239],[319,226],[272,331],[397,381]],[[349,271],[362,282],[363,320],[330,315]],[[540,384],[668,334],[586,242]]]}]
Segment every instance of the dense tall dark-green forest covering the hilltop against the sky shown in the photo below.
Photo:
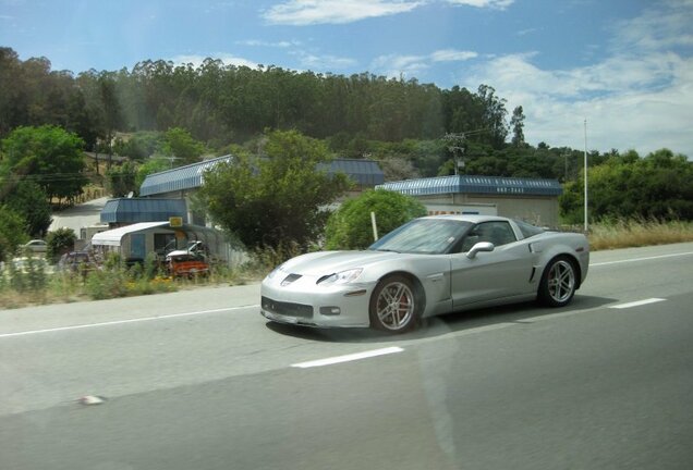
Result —
[{"label": "dense tall dark-green forest covering the hilltop against the sky", "polygon": [[[200,66],[165,61],[131,71],[52,71],[46,58],[21,61],[0,49],[0,137],[20,125],[54,124],[93,146],[113,131],[182,127],[198,140],[242,143],[266,128],[316,137],[401,141],[477,131],[473,140],[502,146],[504,100],[494,88],[440,89],[368,73],[323,75],[275,66]],[[478,132],[483,131],[483,132]]]}]

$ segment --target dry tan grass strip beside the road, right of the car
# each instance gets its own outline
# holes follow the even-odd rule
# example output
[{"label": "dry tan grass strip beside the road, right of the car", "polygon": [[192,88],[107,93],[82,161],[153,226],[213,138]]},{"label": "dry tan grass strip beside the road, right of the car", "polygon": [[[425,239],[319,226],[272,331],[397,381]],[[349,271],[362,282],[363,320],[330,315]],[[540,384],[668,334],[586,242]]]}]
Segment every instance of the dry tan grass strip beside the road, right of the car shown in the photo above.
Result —
[{"label": "dry tan grass strip beside the road, right of the car", "polygon": [[588,238],[593,251],[693,242],[693,223],[619,220],[593,225]]}]

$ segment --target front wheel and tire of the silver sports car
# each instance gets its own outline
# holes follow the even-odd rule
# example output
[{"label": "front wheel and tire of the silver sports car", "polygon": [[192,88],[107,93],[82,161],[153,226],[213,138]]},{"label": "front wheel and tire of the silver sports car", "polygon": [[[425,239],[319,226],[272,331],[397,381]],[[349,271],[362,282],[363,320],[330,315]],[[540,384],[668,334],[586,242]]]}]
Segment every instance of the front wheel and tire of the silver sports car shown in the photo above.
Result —
[{"label": "front wheel and tire of the silver sports car", "polygon": [[370,296],[370,326],[388,333],[404,333],[415,329],[424,308],[423,296],[403,275],[382,279]]}]

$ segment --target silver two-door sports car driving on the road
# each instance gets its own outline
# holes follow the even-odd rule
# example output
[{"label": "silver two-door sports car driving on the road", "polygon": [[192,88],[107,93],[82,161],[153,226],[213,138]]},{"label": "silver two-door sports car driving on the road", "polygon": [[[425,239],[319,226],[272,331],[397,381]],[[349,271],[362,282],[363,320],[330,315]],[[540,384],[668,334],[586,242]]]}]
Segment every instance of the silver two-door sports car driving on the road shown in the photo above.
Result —
[{"label": "silver two-door sports car driving on the road", "polygon": [[262,285],[269,320],[404,332],[451,311],[538,299],[570,302],[585,281],[587,238],[511,219],[415,219],[364,251],[293,258]]}]

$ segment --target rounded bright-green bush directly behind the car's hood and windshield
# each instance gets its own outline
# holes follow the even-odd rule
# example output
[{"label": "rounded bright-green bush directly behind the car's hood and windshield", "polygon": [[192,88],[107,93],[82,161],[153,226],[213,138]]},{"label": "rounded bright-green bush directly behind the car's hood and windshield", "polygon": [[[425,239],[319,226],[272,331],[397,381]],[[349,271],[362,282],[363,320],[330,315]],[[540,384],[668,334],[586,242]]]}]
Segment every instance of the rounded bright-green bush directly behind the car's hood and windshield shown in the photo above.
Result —
[{"label": "rounded bright-green bush directly behind the car's hood and windshield", "polygon": [[327,249],[363,249],[373,244],[370,212],[375,212],[378,235],[382,236],[410,220],[426,215],[416,199],[385,189],[370,189],[344,201],[330,215],[325,232]]}]

